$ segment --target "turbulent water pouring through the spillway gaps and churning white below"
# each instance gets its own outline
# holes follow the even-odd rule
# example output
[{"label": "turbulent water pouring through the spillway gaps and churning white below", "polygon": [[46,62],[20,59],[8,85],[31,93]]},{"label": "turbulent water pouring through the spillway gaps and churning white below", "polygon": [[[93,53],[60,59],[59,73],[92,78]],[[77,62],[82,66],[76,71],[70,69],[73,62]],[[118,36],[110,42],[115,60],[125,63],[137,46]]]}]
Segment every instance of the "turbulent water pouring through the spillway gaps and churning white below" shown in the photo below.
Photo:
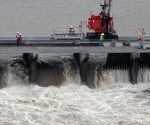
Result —
[{"label": "turbulent water pouring through the spillway gaps and churning white below", "polygon": [[0,90],[1,125],[150,124],[150,73],[146,67],[139,69],[138,80],[141,83],[132,85],[128,70],[100,68],[99,71],[97,67],[102,63],[97,62],[101,58],[105,60],[105,57],[92,56],[89,63],[94,65],[90,71],[93,69],[95,72],[93,83],[96,88],[91,89],[81,83],[72,56],[51,55],[49,59],[48,56],[40,56],[39,62],[55,66],[56,69],[51,69],[54,74],[58,67],[63,67],[63,80],[57,75],[49,76],[53,82],[61,82],[58,87],[30,84],[20,56],[3,60],[8,60],[8,71],[3,71],[5,75],[2,77],[7,84]]}]

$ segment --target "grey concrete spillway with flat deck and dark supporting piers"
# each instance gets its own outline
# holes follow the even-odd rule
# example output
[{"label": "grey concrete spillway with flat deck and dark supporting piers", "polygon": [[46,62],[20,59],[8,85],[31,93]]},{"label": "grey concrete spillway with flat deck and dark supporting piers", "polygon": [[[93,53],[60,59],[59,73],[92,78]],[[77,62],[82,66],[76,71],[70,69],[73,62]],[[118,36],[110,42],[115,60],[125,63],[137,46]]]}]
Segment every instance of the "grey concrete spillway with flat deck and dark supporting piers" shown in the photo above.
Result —
[{"label": "grey concrete spillway with flat deck and dark supporting piers", "polygon": [[[126,38],[120,38],[121,41]],[[135,42],[136,38],[130,38]],[[149,39],[147,38],[147,41]],[[118,43],[119,43],[118,42]],[[38,53],[72,53],[77,61],[81,80],[86,83],[88,78],[87,62],[90,53],[108,53],[106,68],[128,68],[130,81],[137,84],[138,67],[150,65],[150,49],[138,49],[136,46],[99,47],[98,41],[91,40],[54,40],[52,38],[24,38],[22,46],[16,46],[16,38],[0,38],[1,54],[23,54],[29,70],[30,81],[36,82],[36,65]],[[35,54],[36,53],[36,54]]]}]

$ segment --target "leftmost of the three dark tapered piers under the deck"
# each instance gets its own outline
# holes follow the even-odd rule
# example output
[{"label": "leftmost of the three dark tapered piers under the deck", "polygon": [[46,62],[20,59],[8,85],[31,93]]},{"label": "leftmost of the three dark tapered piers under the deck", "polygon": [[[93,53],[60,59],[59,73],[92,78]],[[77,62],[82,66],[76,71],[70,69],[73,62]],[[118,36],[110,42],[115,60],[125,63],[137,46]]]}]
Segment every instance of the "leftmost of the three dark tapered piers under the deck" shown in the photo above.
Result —
[{"label": "leftmost of the three dark tapered piers under the deck", "polygon": [[23,58],[26,62],[28,71],[29,71],[29,78],[31,83],[36,83],[36,73],[37,73],[37,59],[38,59],[38,54],[35,53],[24,53]]}]

